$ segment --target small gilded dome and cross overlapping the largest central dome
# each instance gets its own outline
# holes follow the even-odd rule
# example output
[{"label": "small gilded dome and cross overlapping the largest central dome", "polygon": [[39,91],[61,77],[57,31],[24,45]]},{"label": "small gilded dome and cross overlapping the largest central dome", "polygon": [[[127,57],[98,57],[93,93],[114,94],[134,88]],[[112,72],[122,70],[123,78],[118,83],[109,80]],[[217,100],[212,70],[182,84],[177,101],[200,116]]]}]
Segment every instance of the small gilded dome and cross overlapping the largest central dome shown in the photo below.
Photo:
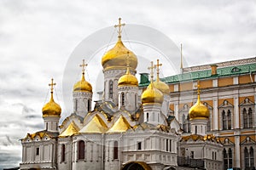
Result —
[{"label": "small gilded dome and cross overlapping the largest central dome", "polygon": [[118,86],[138,86],[137,77],[130,72],[129,53],[127,54],[127,71],[124,76],[119,78]]}]

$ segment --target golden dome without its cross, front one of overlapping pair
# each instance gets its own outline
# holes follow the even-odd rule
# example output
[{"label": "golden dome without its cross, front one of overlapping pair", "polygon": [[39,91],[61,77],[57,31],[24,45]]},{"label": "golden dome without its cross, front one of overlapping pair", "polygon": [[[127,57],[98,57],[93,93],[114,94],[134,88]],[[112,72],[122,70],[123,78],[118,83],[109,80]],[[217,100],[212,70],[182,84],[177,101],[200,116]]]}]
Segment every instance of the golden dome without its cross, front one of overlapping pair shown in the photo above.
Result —
[{"label": "golden dome without its cross, front one of overlapping pair", "polygon": [[153,82],[150,82],[148,88],[142,94],[143,104],[157,103],[162,104],[164,96],[159,89],[154,88]]}]

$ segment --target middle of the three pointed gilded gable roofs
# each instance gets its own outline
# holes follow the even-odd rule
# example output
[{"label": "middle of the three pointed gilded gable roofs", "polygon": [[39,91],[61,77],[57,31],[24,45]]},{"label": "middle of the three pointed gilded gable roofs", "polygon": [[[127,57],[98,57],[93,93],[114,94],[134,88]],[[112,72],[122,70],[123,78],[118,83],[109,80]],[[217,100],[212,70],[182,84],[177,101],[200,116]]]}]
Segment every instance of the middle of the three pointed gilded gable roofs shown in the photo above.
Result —
[{"label": "middle of the three pointed gilded gable roofs", "polygon": [[79,133],[105,133],[107,130],[106,123],[96,114]]}]

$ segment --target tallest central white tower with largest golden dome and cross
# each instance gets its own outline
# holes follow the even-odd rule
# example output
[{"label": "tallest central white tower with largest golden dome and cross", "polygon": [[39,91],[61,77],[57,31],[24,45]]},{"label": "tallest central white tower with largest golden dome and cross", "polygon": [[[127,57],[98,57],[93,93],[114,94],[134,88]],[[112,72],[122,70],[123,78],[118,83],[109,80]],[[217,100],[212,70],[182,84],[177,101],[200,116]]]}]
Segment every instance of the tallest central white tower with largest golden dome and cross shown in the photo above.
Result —
[{"label": "tallest central white tower with largest golden dome and cross", "polygon": [[115,105],[119,104],[119,93],[118,93],[118,81],[119,77],[123,76],[126,71],[126,56],[129,52],[130,60],[130,73],[131,75],[136,74],[137,68],[137,56],[125,47],[121,40],[121,19],[119,18],[119,24],[114,26],[118,27],[118,41],[113,48],[108,50],[106,54],[102,56],[102,67],[104,73],[104,100],[112,101]]}]

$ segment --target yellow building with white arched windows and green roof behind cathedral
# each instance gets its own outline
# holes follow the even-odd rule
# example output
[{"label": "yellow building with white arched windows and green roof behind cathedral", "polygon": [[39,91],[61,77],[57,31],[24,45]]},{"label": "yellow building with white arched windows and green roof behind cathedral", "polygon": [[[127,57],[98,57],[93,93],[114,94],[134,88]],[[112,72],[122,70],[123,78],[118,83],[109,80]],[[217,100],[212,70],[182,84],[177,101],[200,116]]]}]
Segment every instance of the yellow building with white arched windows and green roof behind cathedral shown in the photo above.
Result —
[{"label": "yellow building with white arched windows and green roof behind cathedral", "polygon": [[[183,135],[191,133],[189,108],[195,104],[200,81],[201,101],[210,111],[208,133],[224,145],[224,169],[256,166],[256,58],[183,68],[162,78],[170,88],[170,115],[176,116]],[[147,77],[147,76],[146,76]],[[140,88],[148,84],[142,75]]]}]

